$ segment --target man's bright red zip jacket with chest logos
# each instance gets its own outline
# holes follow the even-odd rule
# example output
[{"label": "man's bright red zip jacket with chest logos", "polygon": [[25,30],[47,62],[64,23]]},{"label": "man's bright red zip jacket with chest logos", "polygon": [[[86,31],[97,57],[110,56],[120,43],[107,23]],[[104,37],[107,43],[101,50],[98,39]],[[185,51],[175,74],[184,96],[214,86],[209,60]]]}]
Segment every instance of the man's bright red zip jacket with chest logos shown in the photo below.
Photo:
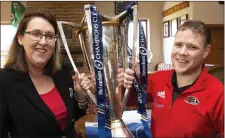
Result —
[{"label": "man's bright red zip jacket with chest logos", "polygon": [[[174,70],[148,76],[148,100],[152,103],[153,137],[215,138],[224,135],[224,86],[204,67],[193,86],[172,103]],[[129,104],[134,105],[132,93]]]}]

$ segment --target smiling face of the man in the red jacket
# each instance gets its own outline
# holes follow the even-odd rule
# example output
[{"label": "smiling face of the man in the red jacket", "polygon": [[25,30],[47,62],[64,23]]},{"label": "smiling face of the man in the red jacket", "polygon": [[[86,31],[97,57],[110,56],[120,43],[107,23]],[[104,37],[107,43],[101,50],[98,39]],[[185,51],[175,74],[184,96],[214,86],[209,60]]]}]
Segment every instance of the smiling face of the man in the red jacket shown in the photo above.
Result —
[{"label": "smiling face of the man in the red jacket", "polygon": [[210,45],[205,48],[203,36],[190,29],[177,32],[171,54],[176,73],[192,74],[199,71],[210,48]]}]

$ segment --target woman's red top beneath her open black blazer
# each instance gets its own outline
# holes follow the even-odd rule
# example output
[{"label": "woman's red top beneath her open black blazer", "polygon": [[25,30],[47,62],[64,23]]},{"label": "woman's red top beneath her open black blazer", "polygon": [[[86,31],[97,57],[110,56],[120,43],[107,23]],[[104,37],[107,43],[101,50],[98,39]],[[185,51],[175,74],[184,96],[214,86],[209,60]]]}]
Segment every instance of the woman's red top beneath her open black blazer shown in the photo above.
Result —
[{"label": "woman's red top beneath her open black blazer", "polygon": [[53,112],[58,120],[62,130],[66,127],[68,112],[62,97],[60,96],[56,87],[54,87],[50,92],[40,95],[45,104]]}]

